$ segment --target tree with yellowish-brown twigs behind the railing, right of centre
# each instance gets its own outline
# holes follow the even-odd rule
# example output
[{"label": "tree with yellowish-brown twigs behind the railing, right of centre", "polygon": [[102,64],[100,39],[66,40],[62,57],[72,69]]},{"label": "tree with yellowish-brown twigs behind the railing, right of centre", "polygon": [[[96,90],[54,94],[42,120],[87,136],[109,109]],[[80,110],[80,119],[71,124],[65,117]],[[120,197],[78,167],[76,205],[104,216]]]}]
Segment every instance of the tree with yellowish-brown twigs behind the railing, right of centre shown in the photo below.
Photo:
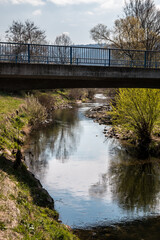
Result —
[{"label": "tree with yellowish-brown twigs behind the railing, right of centre", "polygon": [[[114,29],[108,30],[107,26],[98,24],[91,29],[91,36],[99,43],[106,42],[113,48],[122,49],[123,51],[112,51],[111,59],[124,59],[124,64],[144,65],[144,54],[128,49],[144,50],[144,31],[140,27],[139,20],[135,17],[120,18],[115,21]],[[116,61],[114,62],[116,64]]]}]

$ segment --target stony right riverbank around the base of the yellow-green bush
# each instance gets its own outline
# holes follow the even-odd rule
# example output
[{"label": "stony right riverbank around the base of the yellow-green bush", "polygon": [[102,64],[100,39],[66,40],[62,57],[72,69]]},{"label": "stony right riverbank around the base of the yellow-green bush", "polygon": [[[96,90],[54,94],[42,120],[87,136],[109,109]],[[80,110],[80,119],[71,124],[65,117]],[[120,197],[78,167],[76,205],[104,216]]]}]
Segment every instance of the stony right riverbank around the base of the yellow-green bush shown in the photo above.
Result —
[{"label": "stony right riverbank around the base of the yellow-green bush", "polygon": [[[111,105],[106,102],[104,105],[91,108],[86,117],[92,118],[94,122],[98,122],[100,125],[105,125],[103,133],[106,138],[119,139],[126,147],[128,152],[132,152],[132,155],[136,155],[136,136],[130,130],[122,129],[120,126],[113,126]],[[109,127],[108,127],[109,126]],[[149,153],[153,157],[160,156],[160,128],[155,126],[152,133],[152,139],[150,144]]]}]

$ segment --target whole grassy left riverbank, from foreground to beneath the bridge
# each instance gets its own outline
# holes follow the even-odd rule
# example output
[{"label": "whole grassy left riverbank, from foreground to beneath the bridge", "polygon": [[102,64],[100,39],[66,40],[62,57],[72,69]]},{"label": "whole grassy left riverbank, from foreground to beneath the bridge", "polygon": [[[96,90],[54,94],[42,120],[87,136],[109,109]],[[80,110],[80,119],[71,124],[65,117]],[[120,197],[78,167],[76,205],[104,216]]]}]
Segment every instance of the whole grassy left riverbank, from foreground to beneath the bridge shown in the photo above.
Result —
[{"label": "whole grassy left riverbank, from foreground to beneath the bridge", "polygon": [[51,121],[49,107],[54,111],[73,102],[63,95],[61,91],[36,93],[36,98],[29,96],[26,100],[19,95],[0,94],[0,239],[78,239],[58,221],[53,199],[24,161],[16,168],[14,164],[17,148],[23,147],[32,129]]}]

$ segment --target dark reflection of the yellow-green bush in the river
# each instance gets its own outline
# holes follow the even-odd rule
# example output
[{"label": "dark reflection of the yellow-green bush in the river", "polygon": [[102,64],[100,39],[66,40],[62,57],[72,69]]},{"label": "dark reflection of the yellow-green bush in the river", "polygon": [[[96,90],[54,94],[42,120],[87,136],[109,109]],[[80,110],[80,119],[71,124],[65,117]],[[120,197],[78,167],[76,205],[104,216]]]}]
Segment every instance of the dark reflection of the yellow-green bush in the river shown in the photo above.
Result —
[{"label": "dark reflection of the yellow-green bush in the river", "polygon": [[116,154],[109,169],[114,201],[128,211],[154,211],[159,204],[160,164],[132,159],[124,149]]}]

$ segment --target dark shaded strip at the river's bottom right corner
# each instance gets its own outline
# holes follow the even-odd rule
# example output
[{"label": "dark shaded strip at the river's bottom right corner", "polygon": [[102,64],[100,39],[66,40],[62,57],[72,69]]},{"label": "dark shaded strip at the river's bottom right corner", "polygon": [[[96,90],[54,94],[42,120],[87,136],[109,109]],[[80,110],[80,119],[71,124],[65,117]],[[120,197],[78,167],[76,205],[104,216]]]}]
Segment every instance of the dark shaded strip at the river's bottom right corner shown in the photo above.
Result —
[{"label": "dark shaded strip at the river's bottom right corner", "polygon": [[75,229],[74,233],[81,240],[159,240],[160,217],[136,220],[128,223],[119,223],[106,227],[92,229]]}]

